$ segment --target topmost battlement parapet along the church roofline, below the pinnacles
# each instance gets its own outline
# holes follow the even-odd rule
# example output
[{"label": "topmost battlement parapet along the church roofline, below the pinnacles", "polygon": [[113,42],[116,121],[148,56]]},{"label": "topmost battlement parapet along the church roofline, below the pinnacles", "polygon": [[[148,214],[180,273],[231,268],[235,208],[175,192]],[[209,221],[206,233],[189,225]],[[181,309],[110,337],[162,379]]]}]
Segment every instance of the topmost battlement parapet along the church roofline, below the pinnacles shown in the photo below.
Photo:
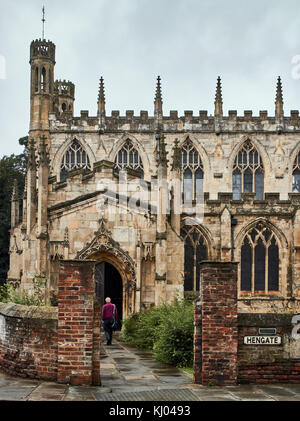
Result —
[{"label": "topmost battlement parapet along the church roofline, below the pinnacles", "polygon": [[[57,118],[57,127],[62,129],[61,117]],[[267,111],[260,111],[258,116],[253,116],[251,110],[244,111],[243,116],[238,116],[237,111],[230,110],[228,116],[213,116],[207,111],[199,111],[199,115],[194,115],[193,111],[185,110],[183,116],[178,116],[178,111],[170,111],[169,116],[163,116],[159,121],[155,116],[151,116],[147,111],[140,111],[135,115],[133,110],[127,110],[125,115],[121,115],[119,110],[111,111],[111,116],[102,117],[101,129],[105,132],[113,131],[150,131],[157,129],[157,124],[165,132],[274,132],[291,133],[300,131],[300,117],[298,110],[291,110],[289,117],[269,116]],[[90,116],[86,110],[81,111],[80,117],[74,117],[71,126],[78,130],[84,126],[95,126],[99,129],[99,118]],[[55,122],[52,122],[55,126]],[[67,127],[66,127],[67,129]]]}]

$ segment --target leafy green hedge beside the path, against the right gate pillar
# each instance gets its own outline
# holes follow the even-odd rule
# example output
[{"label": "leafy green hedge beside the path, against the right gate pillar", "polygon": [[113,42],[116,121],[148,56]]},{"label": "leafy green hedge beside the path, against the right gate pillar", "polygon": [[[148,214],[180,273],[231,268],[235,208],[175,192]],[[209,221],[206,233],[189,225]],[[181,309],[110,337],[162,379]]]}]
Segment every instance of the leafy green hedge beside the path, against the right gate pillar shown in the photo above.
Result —
[{"label": "leafy green hedge beside the path, against the right gate pillar", "polygon": [[134,314],[123,322],[122,340],[154,352],[156,360],[177,367],[193,363],[194,305],[176,299],[172,304]]}]

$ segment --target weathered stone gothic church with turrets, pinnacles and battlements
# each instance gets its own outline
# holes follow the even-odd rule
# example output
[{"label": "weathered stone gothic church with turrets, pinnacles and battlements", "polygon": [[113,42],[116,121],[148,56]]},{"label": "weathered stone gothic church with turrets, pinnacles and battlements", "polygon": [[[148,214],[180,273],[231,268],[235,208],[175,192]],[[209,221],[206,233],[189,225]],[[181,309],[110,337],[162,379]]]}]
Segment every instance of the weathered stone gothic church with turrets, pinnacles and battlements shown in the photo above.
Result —
[{"label": "weathered stone gothic church with turrets, pinnacles and battlements", "polygon": [[300,119],[280,78],[274,116],[224,115],[220,78],[214,115],[165,115],[159,77],[151,115],[107,115],[101,77],[97,115],[74,116],[75,86],[54,68],[55,45],[33,41],[9,282],[42,279],[53,303],[60,260],[93,260],[100,302],[125,318],[196,296],[201,261],[234,261],[239,311],[300,312]]}]

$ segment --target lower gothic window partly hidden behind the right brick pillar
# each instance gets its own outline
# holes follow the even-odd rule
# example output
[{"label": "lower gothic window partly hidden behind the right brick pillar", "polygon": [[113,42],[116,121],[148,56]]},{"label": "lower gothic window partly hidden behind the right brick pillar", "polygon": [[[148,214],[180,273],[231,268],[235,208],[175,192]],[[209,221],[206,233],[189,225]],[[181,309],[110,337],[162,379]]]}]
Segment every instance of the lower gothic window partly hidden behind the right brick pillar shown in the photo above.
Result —
[{"label": "lower gothic window partly hidden behind the right brick pillar", "polygon": [[206,240],[196,227],[183,228],[184,239],[184,290],[199,291],[200,262],[207,260],[208,248]]}]

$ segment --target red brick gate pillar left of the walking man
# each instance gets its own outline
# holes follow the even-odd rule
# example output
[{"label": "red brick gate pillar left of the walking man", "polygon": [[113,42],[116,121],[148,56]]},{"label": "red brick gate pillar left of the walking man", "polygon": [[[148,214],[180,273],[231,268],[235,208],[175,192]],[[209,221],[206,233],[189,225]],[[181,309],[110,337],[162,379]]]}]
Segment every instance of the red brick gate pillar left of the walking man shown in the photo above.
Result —
[{"label": "red brick gate pillar left of the walking man", "polygon": [[100,385],[100,313],[94,261],[62,260],[58,281],[57,381]]}]

